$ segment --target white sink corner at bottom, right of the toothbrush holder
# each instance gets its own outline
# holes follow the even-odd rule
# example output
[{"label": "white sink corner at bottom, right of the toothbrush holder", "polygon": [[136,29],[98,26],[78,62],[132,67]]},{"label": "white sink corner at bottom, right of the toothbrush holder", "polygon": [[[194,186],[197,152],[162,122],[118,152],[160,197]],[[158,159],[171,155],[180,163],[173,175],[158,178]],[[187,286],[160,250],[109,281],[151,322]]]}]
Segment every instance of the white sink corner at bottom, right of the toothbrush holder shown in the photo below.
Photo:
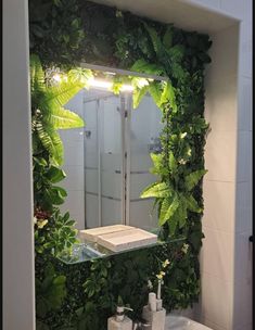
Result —
[{"label": "white sink corner at bottom, right of the toothbrush holder", "polygon": [[167,315],[165,330],[213,330],[184,316]]}]

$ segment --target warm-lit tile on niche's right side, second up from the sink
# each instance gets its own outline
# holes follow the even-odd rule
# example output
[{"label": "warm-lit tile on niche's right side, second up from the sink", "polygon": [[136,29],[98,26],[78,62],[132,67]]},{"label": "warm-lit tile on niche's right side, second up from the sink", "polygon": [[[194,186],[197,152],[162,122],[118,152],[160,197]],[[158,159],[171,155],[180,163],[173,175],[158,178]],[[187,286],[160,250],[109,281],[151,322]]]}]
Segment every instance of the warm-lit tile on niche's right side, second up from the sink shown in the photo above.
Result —
[{"label": "warm-lit tile on niche's right side, second up from the sink", "polygon": [[233,279],[233,234],[203,226],[201,270],[225,281]]}]

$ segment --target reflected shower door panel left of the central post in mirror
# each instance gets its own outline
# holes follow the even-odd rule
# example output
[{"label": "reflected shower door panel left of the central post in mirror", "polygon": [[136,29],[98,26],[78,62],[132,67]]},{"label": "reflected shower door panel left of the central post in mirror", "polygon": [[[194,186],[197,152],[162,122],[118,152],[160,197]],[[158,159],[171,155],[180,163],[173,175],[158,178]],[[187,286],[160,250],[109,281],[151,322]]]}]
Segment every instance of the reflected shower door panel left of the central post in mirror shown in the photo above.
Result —
[{"label": "reflected shower door panel left of the central post in mirror", "polygon": [[109,93],[85,101],[85,227],[123,223],[120,98]]}]

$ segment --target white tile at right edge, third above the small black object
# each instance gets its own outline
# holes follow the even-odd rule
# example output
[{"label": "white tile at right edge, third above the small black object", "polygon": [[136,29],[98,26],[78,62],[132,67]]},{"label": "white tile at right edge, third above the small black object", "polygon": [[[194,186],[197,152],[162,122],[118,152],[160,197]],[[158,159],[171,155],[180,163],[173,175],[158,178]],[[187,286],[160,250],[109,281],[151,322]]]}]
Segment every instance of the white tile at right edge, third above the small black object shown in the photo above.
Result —
[{"label": "white tile at right edge, third above the small black object", "polygon": [[238,129],[252,130],[252,79],[239,78]]}]

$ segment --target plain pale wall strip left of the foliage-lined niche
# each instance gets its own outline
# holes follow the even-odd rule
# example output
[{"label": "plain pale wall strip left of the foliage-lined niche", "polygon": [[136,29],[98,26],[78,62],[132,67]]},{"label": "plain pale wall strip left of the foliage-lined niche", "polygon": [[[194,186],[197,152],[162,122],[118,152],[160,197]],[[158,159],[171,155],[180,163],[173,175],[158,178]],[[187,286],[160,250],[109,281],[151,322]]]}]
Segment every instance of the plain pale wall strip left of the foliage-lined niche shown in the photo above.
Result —
[{"label": "plain pale wall strip left of the foliage-lined niche", "polygon": [[35,329],[28,20],[3,1],[3,329]]}]

